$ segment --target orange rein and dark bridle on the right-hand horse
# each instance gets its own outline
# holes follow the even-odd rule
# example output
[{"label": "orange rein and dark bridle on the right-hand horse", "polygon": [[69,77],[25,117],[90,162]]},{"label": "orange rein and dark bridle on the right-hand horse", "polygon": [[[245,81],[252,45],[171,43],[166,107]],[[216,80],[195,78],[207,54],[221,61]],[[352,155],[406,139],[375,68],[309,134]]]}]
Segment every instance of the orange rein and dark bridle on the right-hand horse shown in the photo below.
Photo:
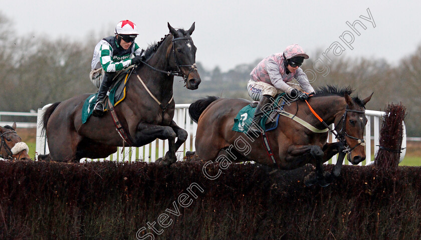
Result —
[{"label": "orange rein and dark bridle on the right-hand horse", "polygon": [[[349,135],[348,133],[346,133],[346,130],[345,130],[345,119],[346,119],[346,114],[347,114],[347,112],[348,111],[351,111],[351,112],[357,112],[357,113],[365,113],[365,110],[363,110],[363,111],[358,111],[358,110],[352,110],[352,109],[348,109],[348,105],[346,105],[346,109],[345,109],[345,111],[344,111],[344,113],[342,114],[342,117],[341,117],[341,119],[343,119],[342,120],[342,129],[339,131],[339,132],[336,132],[336,129],[332,129],[332,128],[330,128],[329,127],[329,125],[316,113],[316,111],[310,106],[310,104],[308,103],[308,101],[307,100],[305,100],[306,101],[306,103],[307,103],[307,106],[308,106],[308,108],[310,108],[310,111],[313,113],[313,115],[314,116],[316,116],[317,117],[317,119],[319,119],[319,121],[320,122],[322,122],[323,123],[323,125],[326,127],[326,128],[328,128],[329,129],[329,131],[330,132],[332,132],[332,134],[333,135],[335,135],[335,138],[336,139],[338,139],[344,146],[345,146],[345,149],[343,150],[345,153],[349,153],[349,152],[351,152],[355,147],[357,147],[358,145],[362,145],[362,146],[364,146],[365,145],[365,141],[364,141],[364,139],[362,138],[362,139],[360,139],[360,138],[358,138],[358,137],[354,137],[354,136],[351,136],[351,135]],[[341,132],[342,132],[342,134],[341,134]],[[346,140],[345,140],[345,136],[347,136],[347,137],[349,137],[349,138],[352,138],[352,139],[355,139],[355,140],[357,140],[358,141],[358,143],[355,145],[355,146],[353,146],[353,147],[349,147],[349,145],[348,145],[348,143],[346,142]]]}]

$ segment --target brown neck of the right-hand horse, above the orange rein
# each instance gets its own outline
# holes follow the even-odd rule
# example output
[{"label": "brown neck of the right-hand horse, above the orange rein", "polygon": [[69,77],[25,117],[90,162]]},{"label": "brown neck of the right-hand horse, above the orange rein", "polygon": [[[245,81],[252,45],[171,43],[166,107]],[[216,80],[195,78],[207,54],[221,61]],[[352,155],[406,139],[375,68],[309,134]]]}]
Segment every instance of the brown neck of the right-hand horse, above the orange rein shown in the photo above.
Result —
[{"label": "brown neck of the right-hand horse, above the orange rein", "polygon": [[311,107],[328,125],[334,123],[346,107],[345,99],[341,96],[321,96],[314,97],[312,100]]}]

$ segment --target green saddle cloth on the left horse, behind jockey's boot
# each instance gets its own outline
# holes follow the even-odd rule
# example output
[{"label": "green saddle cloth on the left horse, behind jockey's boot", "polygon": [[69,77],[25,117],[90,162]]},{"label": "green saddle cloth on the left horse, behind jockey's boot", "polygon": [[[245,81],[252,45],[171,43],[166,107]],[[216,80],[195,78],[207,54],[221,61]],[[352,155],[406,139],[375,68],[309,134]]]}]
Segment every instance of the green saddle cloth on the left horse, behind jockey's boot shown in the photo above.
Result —
[{"label": "green saddle cloth on the left horse, behind jockey's boot", "polygon": [[[119,79],[118,82],[114,85],[114,87],[111,88],[108,98],[110,98],[110,102],[111,104],[113,104],[113,106],[116,106],[126,97],[126,87],[125,87],[126,82],[127,82],[127,75],[125,78]],[[97,96],[98,96],[98,92],[91,94],[88,98],[86,98],[85,102],[83,103],[82,124],[85,123],[88,120],[88,118],[92,115],[92,111],[94,110]],[[108,110],[107,97],[105,97],[103,104],[104,104],[104,111],[107,111]]]}]

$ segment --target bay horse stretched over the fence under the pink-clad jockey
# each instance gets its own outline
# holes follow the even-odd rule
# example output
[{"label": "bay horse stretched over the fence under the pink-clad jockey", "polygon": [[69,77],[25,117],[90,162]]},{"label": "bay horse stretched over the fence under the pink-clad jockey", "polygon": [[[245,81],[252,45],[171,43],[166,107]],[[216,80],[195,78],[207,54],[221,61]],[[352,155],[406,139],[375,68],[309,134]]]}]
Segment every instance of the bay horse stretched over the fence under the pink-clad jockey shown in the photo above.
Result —
[{"label": "bay horse stretched over the fence under the pink-clad jockey", "polygon": [[[352,164],[365,159],[364,126],[367,123],[365,104],[370,96],[360,99],[350,97],[350,87],[339,89],[336,86],[324,86],[306,101],[295,100],[283,106],[283,111],[295,113],[308,122],[306,127],[290,117],[279,116],[278,127],[265,134],[271,148],[258,136],[252,136],[233,130],[234,118],[249,100],[241,98],[207,97],[190,104],[189,114],[197,122],[195,153],[204,161],[232,162],[256,161],[280,169],[294,169],[307,163],[316,169],[304,180],[306,185],[319,183],[327,186],[340,173],[345,154]],[[312,110],[315,113],[312,113]],[[282,111],[281,109],[277,109]],[[317,117],[316,117],[317,115]],[[320,117],[320,119],[318,119]],[[327,143],[327,126],[337,135],[339,141]],[[318,129],[325,129],[324,131]],[[261,131],[262,133],[262,131]],[[261,134],[263,138],[263,134]],[[270,151],[271,150],[271,151]],[[270,153],[273,153],[273,157]],[[323,172],[323,162],[339,153],[336,165],[331,172]]]}]

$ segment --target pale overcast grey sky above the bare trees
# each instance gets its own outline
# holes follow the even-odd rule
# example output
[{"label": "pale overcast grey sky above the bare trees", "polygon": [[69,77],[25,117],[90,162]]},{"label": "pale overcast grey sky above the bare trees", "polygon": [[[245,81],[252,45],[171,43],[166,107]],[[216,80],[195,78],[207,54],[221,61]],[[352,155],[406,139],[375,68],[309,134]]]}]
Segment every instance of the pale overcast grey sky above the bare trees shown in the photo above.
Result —
[{"label": "pale overcast grey sky above the bare trees", "polygon": [[[291,43],[300,44],[313,59],[322,57],[316,55],[317,49],[325,51],[339,42],[345,50],[339,56],[330,51],[332,61],[337,57],[365,56],[396,64],[421,43],[421,2],[385,2],[0,0],[0,11],[12,20],[11,27],[19,35],[33,35],[34,39],[41,35],[75,40],[99,37],[100,32],[110,35],[118,21],[129,19],[140,30],[136,42],[142,48],[168,32],[167,21],[173,27],[186,29],[195,21],[192,37],[197,47],[196,61],[208,70],[219,65],[226,71],[281,52]],[[367,8],[373,22],[363,18],[370,17]],[[346,24],[355,20],[366,27],[355,24],[360,35]],[[341,35],[345,41],[353,40],[350,46],[340,39]]]}]

